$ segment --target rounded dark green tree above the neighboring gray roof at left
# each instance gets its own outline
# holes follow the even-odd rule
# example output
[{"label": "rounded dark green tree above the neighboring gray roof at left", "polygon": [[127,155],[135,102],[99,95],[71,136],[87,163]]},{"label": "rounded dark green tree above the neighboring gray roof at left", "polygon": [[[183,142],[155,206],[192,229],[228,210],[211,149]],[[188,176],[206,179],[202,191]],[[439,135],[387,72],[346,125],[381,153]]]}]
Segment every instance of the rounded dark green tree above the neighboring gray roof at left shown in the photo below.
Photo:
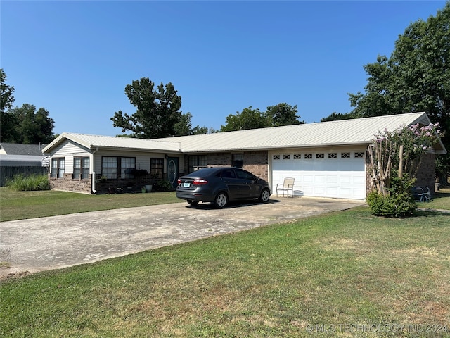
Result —
[{"label": "rounded dark green tree above the neighboring gray roof at left", "polygon": [[55,121],[49,117],[46,109],[39,108],[36,111],[32,104],[23,104],[21,107],[9,109],[6,115],[14,121],[14,125],[11,132],[4,135],[2,142],[45,144],[53,140]]}]

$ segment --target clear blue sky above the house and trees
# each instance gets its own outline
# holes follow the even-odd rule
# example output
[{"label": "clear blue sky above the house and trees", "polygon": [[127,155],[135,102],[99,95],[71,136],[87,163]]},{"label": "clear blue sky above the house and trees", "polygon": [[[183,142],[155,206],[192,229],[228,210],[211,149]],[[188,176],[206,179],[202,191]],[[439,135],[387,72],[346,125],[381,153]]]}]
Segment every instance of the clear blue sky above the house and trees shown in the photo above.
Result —
[{"label": "clear blue sky above the house and trees", "polygon": [[0,1],[1,68],[15,106],[43,107],[53,132],[115,136],[136,110],[133,80],[172,82],[192,124],[219,130],[252,106],[301,120],[347,113],[363,66],[445,1]]}]

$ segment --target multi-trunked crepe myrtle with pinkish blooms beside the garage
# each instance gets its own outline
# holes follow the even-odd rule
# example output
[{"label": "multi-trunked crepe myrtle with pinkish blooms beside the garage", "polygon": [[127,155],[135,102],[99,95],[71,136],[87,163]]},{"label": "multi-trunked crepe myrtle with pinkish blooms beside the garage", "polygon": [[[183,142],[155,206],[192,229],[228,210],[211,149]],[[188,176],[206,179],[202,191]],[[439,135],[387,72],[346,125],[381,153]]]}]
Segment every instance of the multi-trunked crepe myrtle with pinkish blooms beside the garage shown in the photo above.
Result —
[{"label": "multi-trunked crepe myrtle with pinkish blooms beside the garage", "polygon": [[400,179],[416,177],[420,161],[444,134],[439,123],[430,125],[402,125],[389,132],[378,132],[368,145],[368,157],[371,161],[371,178],[378,194],[384,196],[392,192],[391,179],[397,175]]}]

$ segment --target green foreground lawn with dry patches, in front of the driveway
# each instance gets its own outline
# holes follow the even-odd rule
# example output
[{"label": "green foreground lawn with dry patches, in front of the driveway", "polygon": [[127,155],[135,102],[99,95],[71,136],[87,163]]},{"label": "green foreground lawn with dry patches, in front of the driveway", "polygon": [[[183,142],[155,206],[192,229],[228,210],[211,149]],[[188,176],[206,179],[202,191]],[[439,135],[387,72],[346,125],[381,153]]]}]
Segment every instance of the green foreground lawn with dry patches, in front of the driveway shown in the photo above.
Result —
[{"label": "green foreground lawn with dry patches, in front of the driveway", "polygon": [[449,243],[450,213],[359,207],[37,273],[0,336],[450,337]]}]

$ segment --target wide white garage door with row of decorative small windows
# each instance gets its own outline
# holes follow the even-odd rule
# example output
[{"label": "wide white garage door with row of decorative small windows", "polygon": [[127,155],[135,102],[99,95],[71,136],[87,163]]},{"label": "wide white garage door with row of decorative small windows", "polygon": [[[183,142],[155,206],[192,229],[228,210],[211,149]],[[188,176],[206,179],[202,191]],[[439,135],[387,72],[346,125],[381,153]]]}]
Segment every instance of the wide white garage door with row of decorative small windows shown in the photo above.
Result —
[{"label": "wide white garage door with row of decorative small windows", "polygon": [[364,152],[274,154],[273,194],[285,177],[295,178],[295,195],[366,198]]}]

